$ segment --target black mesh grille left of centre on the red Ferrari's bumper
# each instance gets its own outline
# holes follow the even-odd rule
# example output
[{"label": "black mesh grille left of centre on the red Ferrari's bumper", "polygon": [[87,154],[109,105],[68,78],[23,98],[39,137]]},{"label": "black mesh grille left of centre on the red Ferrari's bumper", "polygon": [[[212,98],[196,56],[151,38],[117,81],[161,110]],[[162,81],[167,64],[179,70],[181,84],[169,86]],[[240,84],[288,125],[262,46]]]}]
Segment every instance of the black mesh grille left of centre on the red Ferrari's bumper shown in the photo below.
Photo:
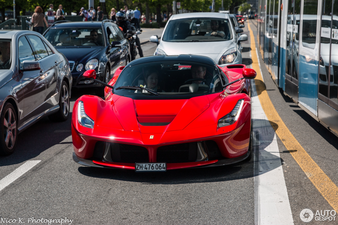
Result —
[{"label": "black mesh grille left of centre on the red Ferrari's bumper", "polygon": [[111,155],[116,163],[148,163],[148,150],[137,145],[111,143]]}]

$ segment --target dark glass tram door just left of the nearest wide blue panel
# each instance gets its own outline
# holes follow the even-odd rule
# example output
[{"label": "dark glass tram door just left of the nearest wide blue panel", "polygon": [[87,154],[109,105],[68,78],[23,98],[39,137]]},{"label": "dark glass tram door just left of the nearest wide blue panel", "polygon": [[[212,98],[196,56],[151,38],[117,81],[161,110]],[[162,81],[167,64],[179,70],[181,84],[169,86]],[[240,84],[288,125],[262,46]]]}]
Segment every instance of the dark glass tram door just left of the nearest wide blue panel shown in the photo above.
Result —
[{"label": "dark glass tram door just left of the nearest wide blue panel", "polygon": [[299,14],[300,0],[288,0],[285,92],[295,102],[298,101]]}]

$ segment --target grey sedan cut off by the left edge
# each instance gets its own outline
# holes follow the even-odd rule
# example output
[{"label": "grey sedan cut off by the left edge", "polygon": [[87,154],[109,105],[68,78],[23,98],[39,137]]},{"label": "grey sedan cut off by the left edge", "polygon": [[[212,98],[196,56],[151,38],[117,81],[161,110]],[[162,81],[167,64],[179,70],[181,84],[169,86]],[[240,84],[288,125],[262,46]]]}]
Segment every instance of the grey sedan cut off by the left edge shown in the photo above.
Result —
[{"label": "grey sedan cut off by the left edge", "polygon": [[71,86],[68,60],[41,34],[0,30],[0,155],[43,116],[67,120]]}]

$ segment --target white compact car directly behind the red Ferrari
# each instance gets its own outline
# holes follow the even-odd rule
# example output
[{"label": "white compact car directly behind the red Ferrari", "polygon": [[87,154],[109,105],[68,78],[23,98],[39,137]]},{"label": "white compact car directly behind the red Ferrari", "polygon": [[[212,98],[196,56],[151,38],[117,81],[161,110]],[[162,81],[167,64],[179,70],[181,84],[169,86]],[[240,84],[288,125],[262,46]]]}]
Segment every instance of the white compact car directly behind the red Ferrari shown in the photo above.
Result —
[{"label": "white compact car directly behind the red Ferrari", "polygon": [[227,13],[192,12],[172,15],[154,55],[194,54],[212,58],[220,67],[242,64],[241,45],[248,36],[238,36]]}]

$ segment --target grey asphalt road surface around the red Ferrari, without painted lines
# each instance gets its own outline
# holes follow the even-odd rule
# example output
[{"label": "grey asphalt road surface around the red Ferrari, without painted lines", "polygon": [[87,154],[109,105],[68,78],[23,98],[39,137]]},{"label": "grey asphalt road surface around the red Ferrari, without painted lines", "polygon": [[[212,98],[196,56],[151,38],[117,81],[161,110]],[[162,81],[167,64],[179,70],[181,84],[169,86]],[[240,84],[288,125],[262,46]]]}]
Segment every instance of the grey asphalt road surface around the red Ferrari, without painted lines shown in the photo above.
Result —
[{"label": "grey asphalt road surface around the red Ferrari, without painted lines", "polygon": [[[251,29],[256,29],[254,24]],[[244,33],[248,34],[247,26]],[[243,64],[248,66],[252,63],[249,41],[243,44]],[[144,55],[152,55],[156,44],[147,43],[142,48]],[[338,184],[337,137],[284,96],[262,61],[261,65],[277,112],[320,168]],[[94,93],[72,90],[71,111],[78,97]],[[277,143],[285,162],[283,173],[294,223],[302,223],[299,211],[305,207],[332,209],[278,137]],[[53,123],[43,118],[20,133],[15,153],[0,158],[0,180],[27,161],[41,161],[0,191],[0,223],[13,224],[1,222],[1,218],[22,218],[28,223],[29,218],[45,221],[66,217],[71,224],[84,225],[255,223],[254,158],[217,168],[135,173],[84,167],[73,161],[72,153],[70,119]],[[48,221],[30,223],[45,225]]]}]

